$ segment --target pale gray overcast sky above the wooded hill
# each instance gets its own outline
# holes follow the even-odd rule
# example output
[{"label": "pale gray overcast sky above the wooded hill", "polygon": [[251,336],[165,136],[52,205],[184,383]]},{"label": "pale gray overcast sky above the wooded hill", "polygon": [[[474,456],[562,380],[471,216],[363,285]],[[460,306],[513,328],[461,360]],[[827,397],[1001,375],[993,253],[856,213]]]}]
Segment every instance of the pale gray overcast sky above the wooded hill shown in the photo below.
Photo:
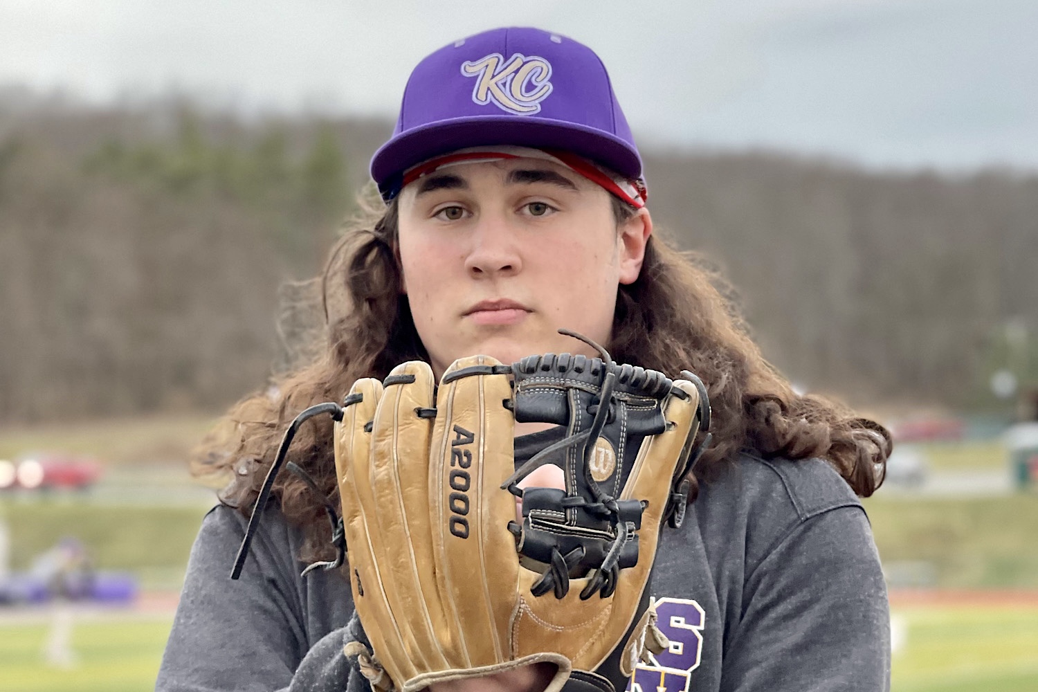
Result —
[{"label": "pale gray overcast sky above the wooded hill", "polygon": [[0,84],[393,117],[501,25],[595,49],[643,147],[1038,169],[1038,0],[0,0]]}]

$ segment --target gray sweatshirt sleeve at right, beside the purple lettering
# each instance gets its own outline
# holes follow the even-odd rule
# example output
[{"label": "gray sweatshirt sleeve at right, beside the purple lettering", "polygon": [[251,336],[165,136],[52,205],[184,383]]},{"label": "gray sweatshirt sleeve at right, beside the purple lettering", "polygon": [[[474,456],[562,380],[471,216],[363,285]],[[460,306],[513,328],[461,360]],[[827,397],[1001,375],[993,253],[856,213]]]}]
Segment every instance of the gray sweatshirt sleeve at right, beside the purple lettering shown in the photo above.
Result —
[{"label": "gray sweatshirt sleeve at right, beside the purple lettering", "polygon": [[890,689],[890,610],[864,509],[803,519],[747,575],[725,692]]}]

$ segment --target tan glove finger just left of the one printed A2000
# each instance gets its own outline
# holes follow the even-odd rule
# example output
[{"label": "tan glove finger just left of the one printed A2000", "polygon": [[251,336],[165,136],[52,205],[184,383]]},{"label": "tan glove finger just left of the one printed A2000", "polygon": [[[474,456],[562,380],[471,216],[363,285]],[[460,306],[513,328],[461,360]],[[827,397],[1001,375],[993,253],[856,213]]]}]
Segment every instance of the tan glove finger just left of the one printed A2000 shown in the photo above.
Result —
[{"label": "tan glove finger just left of the one printed A2000", "polygon": [[[446,659],[437,632],[446,630],[439,607],[429,514],[429,444],[433,419],[417,409],[433,406],[433,371],[410,361],[393,368],[372,430],[372,488],[380,537],[389,548],[380,569],[393,613],[404,628],[403,655],[419,670],[440,670]],[[388,574],[387,574],[388,573]]]}]

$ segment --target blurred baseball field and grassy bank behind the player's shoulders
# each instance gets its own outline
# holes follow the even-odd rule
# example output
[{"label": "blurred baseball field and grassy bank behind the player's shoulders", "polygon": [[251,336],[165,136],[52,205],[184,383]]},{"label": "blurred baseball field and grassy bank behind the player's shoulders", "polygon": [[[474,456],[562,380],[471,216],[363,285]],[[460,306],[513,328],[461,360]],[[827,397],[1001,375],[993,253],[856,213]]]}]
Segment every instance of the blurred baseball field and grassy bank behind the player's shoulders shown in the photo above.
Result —
[{"label": "blurred baseball field and grassy bank behind the player's shoulders", "polygon": [[[148,690],[172,621],[176,590],[212,491],[183,464],[211,419],[168,417],[110,424],[22,426],[0,434],[0,458],[64,440],[109,460],[85,493],[0,496],[10,562],[75,535],[95,563],[124,570],[141,592],[129,607],[72,609],[64,664],[48,662],[55,614],[0,606],[4,692]],[[1005,449],[981,440],[922,445],[936,481],[1006,474]],[[158,460],[140,464],[133,460]],[[973,477],[973,476],[971,476]],[[1009,482],[980,496],[933,487],[881,489],[866,500],[892,583],[895,692],[1023,692],[1038,689],[1038,494]],[[228,555],[228,565],[233,556]]]}]

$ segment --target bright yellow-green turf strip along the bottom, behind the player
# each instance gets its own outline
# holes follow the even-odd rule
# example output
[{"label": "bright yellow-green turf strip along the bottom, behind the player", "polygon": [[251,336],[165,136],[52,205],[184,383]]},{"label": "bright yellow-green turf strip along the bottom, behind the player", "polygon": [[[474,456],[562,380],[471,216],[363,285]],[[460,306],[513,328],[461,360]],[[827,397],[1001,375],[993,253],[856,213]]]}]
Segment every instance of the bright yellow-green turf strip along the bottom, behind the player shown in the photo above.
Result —
[{"label": "bright yellow-green turf strip along the bottom, behind the player", "polygon": [[[894,657],[894,692],[1033,692],[1038,690],[1038,606],[895,608],[906,632]],[[70,670],[48,667],[46,625],[0,620],[4,692],[151,690],[169,619],[75,626]]]}]

